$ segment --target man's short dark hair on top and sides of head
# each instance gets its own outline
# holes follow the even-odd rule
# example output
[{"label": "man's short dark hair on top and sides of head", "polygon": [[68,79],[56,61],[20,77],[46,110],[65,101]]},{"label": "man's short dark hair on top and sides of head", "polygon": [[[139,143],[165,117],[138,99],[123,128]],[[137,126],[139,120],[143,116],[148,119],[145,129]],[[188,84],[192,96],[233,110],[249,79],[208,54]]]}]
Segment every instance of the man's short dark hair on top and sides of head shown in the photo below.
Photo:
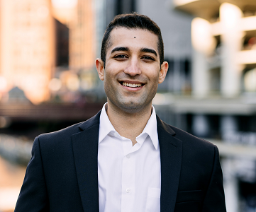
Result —
[{"label": "man's short dark hair on top and sides of head", "polygon": [[159,26],[153,20],[148,18],[148,16],[140,15],[138,13],[128,13],[121,14],[113,18],[111,23],[109,23],[108,27],[106,28],[101,43],[101,60],[104,62],[104,68],[106,62],[106,52],[110,40],[110,33],[114,28],[118,27],[148,30],[151,33],[157,35],[157,48],[160,55],[160,65],[164,62],[164,42],[162,41],[162,35]]}]

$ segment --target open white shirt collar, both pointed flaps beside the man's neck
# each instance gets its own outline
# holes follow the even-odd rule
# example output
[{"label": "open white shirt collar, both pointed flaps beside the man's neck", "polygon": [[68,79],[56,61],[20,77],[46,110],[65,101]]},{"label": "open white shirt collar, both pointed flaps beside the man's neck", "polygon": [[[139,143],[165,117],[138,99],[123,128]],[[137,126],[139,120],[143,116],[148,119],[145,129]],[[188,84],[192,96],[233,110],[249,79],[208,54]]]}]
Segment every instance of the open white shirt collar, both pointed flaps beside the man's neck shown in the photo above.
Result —
[{"label": "open white shirt collar, both pointed flaps beside the man's neck", "polygon": [[[101,116],[99,118],[99,143],[101,143],[101,141],[110,132],[116,132],[116,129],[114,129],[113,125],[108,119],[108,115],[106,114],[106,104],[107,102],[102,107]],[[144,137],[145,134],[148,134],[148,136],[150,136],[150,139],[155,149],[157,150],[159,147],[159,142],[158,142],[158,134],[157,134],[157,116],[155,114],[154,106],[152,106],[152,113],[151,113],[150,119],[148,119],[148,123],[143,129],[143,132],[137,138],[140,138],[141,136]]]}]

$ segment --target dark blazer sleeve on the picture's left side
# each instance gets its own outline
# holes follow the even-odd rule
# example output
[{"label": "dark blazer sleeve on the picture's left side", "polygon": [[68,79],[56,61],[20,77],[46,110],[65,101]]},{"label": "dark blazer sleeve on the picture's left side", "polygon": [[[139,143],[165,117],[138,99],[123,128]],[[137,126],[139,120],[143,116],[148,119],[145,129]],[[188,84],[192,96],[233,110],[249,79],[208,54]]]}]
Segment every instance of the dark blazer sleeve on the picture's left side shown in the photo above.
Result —
[{"label": "dark blazer sleeve on the picture's left side", "polygon": [[28,163],[26,175],[14,212],[20,211],[49,211],[48,194],[38,137],[35,138],[33,143],[32,158]]}]

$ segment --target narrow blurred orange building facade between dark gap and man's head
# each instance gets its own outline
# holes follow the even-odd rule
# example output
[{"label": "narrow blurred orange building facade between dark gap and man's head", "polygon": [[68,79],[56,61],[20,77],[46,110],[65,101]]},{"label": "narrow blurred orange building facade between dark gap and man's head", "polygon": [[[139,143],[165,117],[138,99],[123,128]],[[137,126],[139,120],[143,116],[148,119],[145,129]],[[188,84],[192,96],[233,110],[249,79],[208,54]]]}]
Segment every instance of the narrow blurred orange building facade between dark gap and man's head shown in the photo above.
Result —
[{"label": "narrow blurred orange building facade between dark gap and man's head", "polygon": [[69,23],[69,66],[92,69],[96,57],[96,21],[94,1],[78,0],[76,13]]}]

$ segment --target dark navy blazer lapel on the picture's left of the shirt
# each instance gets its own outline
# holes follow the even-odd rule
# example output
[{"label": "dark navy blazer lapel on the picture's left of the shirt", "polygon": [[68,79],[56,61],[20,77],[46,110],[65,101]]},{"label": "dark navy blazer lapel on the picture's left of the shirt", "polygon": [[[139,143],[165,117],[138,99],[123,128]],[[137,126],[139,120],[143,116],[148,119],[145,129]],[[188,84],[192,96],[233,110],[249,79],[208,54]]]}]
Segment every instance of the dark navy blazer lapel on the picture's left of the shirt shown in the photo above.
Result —
[{"label": "dark navy blazer lapel on the picture's left of the shirt", "polygon": [[72,135],[74,163],[84,211],[99,212],[98,143],[99,115],[83,122]]}]

